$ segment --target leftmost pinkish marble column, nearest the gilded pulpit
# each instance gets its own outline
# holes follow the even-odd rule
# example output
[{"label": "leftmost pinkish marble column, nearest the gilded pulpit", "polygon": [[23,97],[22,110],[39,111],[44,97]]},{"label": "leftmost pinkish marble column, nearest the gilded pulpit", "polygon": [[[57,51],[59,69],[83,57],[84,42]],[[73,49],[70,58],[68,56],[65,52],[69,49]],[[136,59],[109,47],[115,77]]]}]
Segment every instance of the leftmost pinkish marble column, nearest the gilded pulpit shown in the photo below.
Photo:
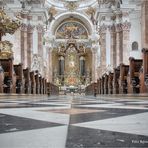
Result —
[{"label": "leftmost pinkish marble column, nearest the gilded pulpit", "polygon": [[27,25],[21,24],[21,63],[23,68],[27,67]]}]

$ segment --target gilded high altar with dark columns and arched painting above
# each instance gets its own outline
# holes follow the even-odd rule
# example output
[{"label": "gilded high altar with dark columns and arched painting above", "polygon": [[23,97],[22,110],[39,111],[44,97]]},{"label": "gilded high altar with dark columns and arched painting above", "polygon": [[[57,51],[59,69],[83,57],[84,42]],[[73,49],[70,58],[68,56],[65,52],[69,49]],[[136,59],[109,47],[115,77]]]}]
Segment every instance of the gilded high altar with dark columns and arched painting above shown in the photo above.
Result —
[{"label": "gilded high altar with dark columns and arched painting above", "polygon": [[52,53],[53,81],[56,85],[78,88],[91,82],[91,49],[86,28],[75,21],[59,26]]}]

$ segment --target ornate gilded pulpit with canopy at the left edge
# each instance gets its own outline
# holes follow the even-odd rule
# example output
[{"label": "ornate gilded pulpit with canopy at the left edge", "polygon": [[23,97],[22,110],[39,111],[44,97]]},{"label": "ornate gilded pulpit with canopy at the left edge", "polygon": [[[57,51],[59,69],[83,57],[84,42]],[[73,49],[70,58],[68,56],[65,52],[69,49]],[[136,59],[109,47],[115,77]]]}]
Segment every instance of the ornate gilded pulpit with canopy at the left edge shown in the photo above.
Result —
[{"label": "ornate gilded pulpit with canopy at the left edge", "polygon": [[6,33],[14,34],[19,28],[20,21],[9,18],[4,10],[0,8],[0,59],[13,57],[12,44],[9,41],[1,41],[2,36]]}]

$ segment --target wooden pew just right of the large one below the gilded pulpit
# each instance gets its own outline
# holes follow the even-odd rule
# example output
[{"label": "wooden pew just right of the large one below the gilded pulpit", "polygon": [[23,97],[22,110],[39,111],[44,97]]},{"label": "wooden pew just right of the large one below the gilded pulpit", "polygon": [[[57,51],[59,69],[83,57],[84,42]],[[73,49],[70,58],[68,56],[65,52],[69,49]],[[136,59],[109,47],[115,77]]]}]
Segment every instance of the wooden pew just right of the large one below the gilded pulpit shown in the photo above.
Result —
[{"label": "wooden pew just right of the large one below the gilded pulpit", "polygon": [[16,74],[16,93],[23,93],[24,90],[24,76],[23,76],[23,65],[14,65],[14,71]]}]

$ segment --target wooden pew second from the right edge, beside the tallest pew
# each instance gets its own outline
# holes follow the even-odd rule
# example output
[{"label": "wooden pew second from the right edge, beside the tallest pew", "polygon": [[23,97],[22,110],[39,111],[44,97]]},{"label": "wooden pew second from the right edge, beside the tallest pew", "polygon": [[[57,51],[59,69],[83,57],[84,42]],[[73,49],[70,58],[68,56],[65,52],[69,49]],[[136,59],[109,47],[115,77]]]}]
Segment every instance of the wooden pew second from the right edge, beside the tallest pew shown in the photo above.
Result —
[{"label": "wooden pew second from the right edge, beside the tallest pew", "polygon": [[129,58],[128,93],[140,93],[140,69],[141,59]]}]

